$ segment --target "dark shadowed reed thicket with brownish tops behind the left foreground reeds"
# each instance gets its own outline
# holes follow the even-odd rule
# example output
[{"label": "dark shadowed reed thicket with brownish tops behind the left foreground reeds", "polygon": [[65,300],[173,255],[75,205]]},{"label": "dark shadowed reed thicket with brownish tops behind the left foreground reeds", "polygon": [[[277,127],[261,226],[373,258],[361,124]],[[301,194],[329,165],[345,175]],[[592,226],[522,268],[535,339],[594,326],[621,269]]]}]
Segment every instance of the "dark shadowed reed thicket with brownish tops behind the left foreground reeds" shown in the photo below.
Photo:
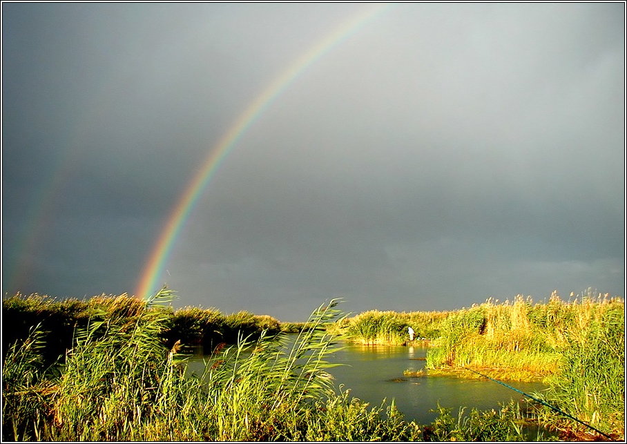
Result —
[{"label": "dark shadowed reed thicket with brownish tops behind the left foreground reeds", "polygon": [[[2,301],[2,349],[6,351],[16,341],[28,338],[30,329],[41,325],[46,342],[45,358],[53,363],[72,348],[75,332],[85,329],[90,322],[107,321],[124,325],[137,320],[148,302],[128,296],[94,296],[86,300],[62,299],[32,294],[17,294]],[[220,344],[232,345],[242,338],[258,338],[262,331],[267,335],[280,331],[294,333],[305,327],[305,322],[279,322],[268,315],[255,315],[248,311],[224,314],[218,309],[199,307],[152,307],[169,314],[168,328],[160,334],[164,345],[171,348],[180,341],[185,346],[199,346],[210,353]]]}]

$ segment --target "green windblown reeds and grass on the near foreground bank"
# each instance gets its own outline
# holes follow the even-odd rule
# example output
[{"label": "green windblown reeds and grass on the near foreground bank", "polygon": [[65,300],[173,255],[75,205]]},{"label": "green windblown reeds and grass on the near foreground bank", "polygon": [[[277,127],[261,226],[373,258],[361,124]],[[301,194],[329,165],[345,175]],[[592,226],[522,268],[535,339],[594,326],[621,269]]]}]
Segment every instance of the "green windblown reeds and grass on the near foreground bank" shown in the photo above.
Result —
[{"label": "green windblown reeds and grass on the near foreground bank", "polygon": [[180,342],[164,340],[170,298],[162,291],[117,318],[94,307],[52,366],[44,333],[31,329],[3,362],[3,441],[525,439],[527,422],[513,406],[456,423],[442,409],[422,426],[404,421],[394,403],[372,407],[334,387],[325,357],[334,350],[335,301],[312,313],[296,341],[271,328],[240,336],[217,347],[204,374],[185,377]]}]

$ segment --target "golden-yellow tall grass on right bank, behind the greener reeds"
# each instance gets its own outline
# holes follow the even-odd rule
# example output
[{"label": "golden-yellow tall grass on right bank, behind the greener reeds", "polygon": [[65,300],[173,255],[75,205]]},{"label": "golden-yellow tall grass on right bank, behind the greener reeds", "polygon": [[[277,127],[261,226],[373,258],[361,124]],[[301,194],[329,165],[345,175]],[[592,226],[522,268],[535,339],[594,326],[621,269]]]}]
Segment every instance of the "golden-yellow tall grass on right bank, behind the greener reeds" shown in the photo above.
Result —
[{"label": "golden-yellow tall grass on right bank, behind the greener reeds", "polygon": [[427,353],[427,367],[510,369],[528,380],[559,374],[572,335],[599,336],[595,325],[606,325],[606,315],[623,310],[621,300],[599,295],[563,302],[553,293],[548,303],[536,305],[522,296],[512,303],[488,300],[450,313]]}]

